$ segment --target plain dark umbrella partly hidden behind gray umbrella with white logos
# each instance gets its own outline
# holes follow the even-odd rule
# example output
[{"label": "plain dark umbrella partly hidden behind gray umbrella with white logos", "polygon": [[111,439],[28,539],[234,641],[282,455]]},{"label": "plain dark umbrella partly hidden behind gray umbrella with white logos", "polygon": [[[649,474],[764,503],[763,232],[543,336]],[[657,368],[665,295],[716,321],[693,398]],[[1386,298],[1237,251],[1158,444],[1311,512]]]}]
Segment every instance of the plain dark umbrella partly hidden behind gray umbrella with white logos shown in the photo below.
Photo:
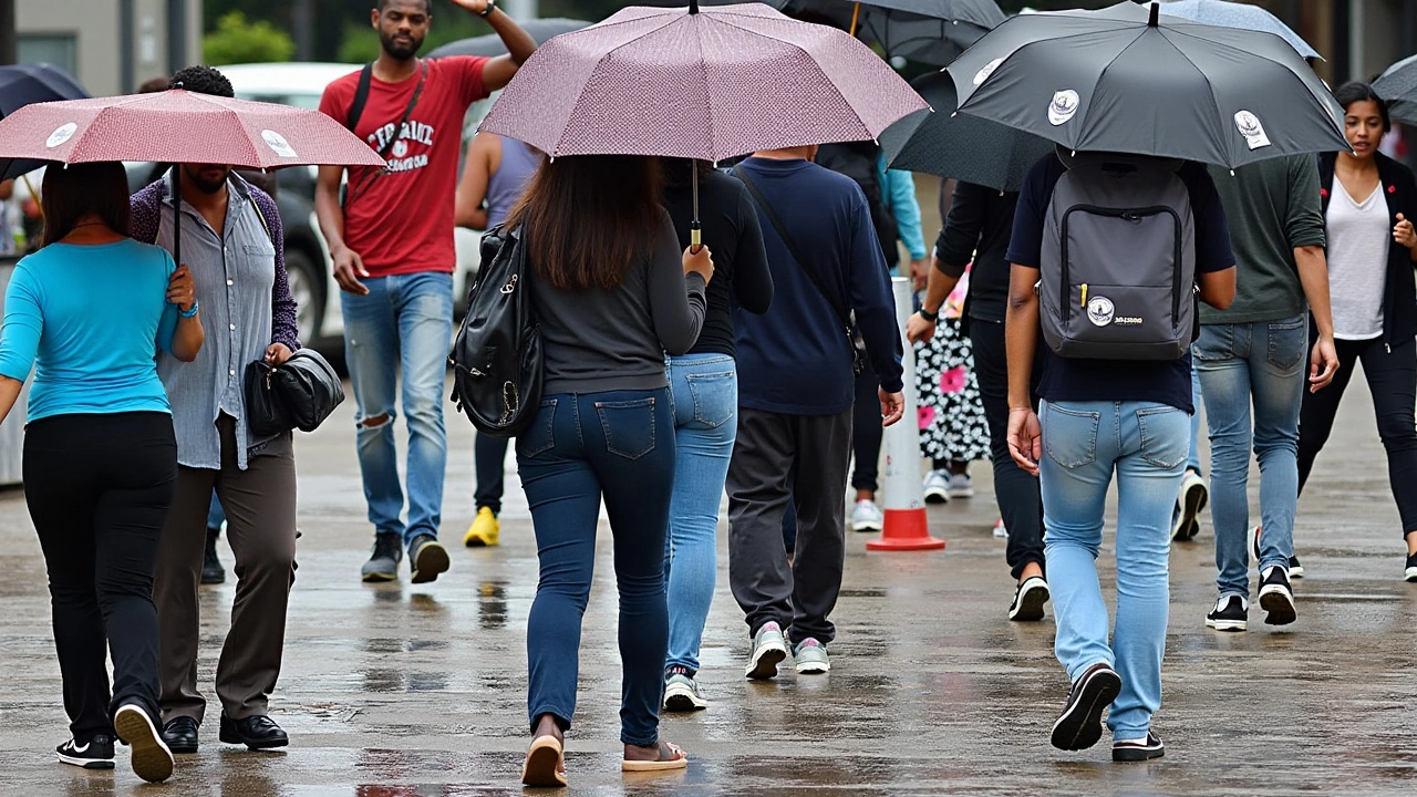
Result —
[{"label": "plain dark umbrella partly hidden behind gray umbrella with white logos", "polygon": [[913,113],[881,133],[881,150],[890,169],[1017,191],[1029,169],[1053,152],[1053,142],[1047,139],[955,113],[955,84],[945,72],[930,72],[910,85],[934,112]]}]

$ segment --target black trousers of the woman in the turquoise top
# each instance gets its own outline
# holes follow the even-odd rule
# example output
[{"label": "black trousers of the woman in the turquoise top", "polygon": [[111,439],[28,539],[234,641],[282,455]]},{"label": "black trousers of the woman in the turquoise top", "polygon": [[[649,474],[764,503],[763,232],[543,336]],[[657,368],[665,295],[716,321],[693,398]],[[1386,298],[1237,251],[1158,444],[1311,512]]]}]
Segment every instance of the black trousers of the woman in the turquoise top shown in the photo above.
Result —
[{"label": "black trousers of the woman in the turquoise top", "polygon": [[55,416],[26,430],[24,498],[44,549],[64,710],[79,745],[112,736],[113,712],[126,703],[157,722],[153,567],[176,481],[171,416]]}]

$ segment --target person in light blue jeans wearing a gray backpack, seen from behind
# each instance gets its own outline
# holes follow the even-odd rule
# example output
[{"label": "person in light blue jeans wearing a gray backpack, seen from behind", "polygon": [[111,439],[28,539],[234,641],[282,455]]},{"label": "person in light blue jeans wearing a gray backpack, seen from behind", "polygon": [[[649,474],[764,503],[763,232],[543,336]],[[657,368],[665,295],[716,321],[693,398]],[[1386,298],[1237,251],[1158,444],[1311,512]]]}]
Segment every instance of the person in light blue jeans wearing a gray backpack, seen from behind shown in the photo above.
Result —
[{"label": "person in light blue jeans wearing a gray backpack, seen from behind", "polygon": [[[1112,760],[1156,759],[1195,301],[1223,309],[1236,291],[1224,211],[1197,163],[1058,152],[1024,180],[1007,260],[1009,452],[1040,478],[1056,652],[1073,682],[1053,746],[1095,745],[1111,705]],[[1029,394],[1040,336],[1041,420]],[[1095,559],[1114,471],[1110,642]]]}]

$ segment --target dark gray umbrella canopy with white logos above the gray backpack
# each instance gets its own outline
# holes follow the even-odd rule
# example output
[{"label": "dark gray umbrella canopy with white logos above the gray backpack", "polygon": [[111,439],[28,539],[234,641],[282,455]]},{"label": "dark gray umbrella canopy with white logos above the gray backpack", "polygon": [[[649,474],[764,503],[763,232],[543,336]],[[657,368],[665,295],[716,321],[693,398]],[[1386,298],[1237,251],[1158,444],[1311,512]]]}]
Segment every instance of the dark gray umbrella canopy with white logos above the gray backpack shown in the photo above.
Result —
[{"label": "dark gray umbrella canopy with white logos above the gray backpack", "polygon": [[951,65],[959,111],[1073,150],[1231,169],[1348,149],[1343,109],[1282,38],[1158,10],[1119,3],[1005,21]]}]

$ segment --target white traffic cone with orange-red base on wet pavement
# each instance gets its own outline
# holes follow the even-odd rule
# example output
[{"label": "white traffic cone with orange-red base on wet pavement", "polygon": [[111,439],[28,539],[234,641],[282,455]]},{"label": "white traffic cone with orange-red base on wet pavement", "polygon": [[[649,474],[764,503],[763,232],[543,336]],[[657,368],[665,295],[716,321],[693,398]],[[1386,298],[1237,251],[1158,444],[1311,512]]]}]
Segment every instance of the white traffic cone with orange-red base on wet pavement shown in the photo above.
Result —
[{"label": "white traffic cone with orange-red base on wet pavement", "polygon": [[[914,302],[910,279],[891,279],[896,295],[896,321],[904,335]],[[886,430],[884,515],[880,539],[866,543],[866,550],[939,550],[945,540],[930,536],[925,515],[925,489],[920,476],[920,411],[915,407],[915,352],[905,345],[905,416]]]}]

